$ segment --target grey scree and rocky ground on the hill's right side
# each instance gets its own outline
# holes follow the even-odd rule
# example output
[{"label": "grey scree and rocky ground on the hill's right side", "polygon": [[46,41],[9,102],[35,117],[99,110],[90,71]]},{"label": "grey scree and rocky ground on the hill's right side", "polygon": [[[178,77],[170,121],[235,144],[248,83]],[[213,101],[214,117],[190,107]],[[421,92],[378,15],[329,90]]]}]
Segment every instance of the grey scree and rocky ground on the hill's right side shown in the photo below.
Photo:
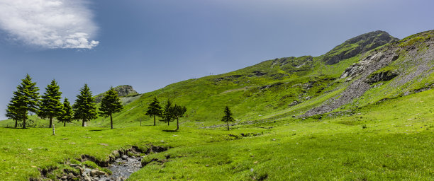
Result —
[{"label": "grey scree and rocky ground on the hill's right side", "polygon": [[[308,110],[301,117],[321,115],[351,103],[371,88],[369,83],[392,81],[388,86],[399,90],[399,87],[406,83],[416,82],[418,78],[433,74],[433,35],[434,31],[420,33],[409,37],[408,40],[404,39],[371,52],[357,64],[352,64],[345,69],[340,76],[347,82],[348,86],[345,91],[325,101],[322,105]],[[392,62],[394,66],[390,67]],[[384,70],[386,66],[388,68]],[[401,93],[408,94],[404,91]]]}]

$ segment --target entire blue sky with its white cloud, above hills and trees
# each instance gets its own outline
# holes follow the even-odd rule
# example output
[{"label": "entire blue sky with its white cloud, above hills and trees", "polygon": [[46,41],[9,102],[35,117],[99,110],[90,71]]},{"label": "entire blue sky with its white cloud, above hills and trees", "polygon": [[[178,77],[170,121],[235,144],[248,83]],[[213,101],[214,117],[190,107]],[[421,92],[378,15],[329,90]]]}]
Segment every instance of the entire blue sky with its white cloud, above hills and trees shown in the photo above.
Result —
[{"label": "entire blue sky with its white cloud, above hills and trees", "polygon": [[431,0],[2,0],[0,119],[21,79],[71,100],[139,93],[277,57],[318,56],[357,35],[434,29]]}]

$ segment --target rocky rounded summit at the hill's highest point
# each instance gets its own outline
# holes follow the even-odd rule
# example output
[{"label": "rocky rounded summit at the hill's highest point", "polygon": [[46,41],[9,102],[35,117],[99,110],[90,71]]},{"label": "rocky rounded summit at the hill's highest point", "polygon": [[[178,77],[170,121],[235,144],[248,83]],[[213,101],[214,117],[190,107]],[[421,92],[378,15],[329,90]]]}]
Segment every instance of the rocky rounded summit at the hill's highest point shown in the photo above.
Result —
[{"label": "rocky rounded summit at the hill's highest point", "polygon": [[390,42],[396,42],[399,39],[392,37],[384,31],[373,31],[365,33],[350,40],[327,52],[323,57],[325,64],[337,64],[343,59],[354,57],[357,54],[362,54],[376,47],[385,45]]}]

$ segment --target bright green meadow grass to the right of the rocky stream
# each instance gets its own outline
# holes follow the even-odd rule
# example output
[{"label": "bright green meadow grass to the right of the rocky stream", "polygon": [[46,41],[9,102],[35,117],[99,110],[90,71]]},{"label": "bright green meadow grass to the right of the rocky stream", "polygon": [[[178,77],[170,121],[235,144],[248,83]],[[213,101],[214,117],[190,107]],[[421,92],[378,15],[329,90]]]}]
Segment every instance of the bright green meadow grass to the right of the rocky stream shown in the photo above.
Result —
[{"label": "bright green meadow grass to the right of the rocky stream", "polygon": [[[274,126],[270,134],[172,148],[151,156],[170,155],[167,163],[149,164],[130,178],[430,180],[434,174],[433,101],[426,101],[430,98],[433,91],[365,107],[350,117],[280,120],[267,124]],[[367,128],[343,122],[361,122]]]}]

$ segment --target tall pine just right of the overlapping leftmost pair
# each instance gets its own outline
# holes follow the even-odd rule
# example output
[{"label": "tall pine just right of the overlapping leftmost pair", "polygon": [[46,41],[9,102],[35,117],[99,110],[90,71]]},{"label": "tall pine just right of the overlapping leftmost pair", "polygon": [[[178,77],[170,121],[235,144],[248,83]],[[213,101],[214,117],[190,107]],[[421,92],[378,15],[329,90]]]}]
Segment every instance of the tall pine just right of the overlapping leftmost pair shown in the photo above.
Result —
[{"label": "tall pine just right of the overlapping leftmost pair", "polygon": [[57,86],[57,82],[52,80],[45,88],[44,95],[41,96],[41,104],[38,110],[38,116],[42,118],[50,119],[50,126],[52,127],[52,118],[62,115],[62,92],[59,91],[60,87]]}]

